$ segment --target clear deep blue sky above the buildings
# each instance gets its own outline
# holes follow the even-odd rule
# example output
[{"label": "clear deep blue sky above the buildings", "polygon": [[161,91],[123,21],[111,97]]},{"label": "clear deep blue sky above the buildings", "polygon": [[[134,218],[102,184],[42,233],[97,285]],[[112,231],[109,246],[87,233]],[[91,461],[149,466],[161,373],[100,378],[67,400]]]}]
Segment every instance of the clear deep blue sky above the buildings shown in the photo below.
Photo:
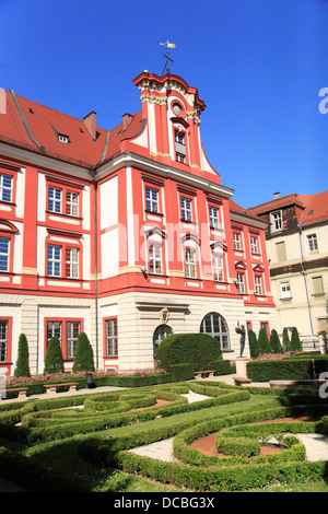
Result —
[{"label": "clear deep blue sky above the buildings", "polygon": [[327,189],[327,0],[0,0],[0,87],[112,129],[141,108],[132,80],[198,87],[206,153],[234,199]]}]

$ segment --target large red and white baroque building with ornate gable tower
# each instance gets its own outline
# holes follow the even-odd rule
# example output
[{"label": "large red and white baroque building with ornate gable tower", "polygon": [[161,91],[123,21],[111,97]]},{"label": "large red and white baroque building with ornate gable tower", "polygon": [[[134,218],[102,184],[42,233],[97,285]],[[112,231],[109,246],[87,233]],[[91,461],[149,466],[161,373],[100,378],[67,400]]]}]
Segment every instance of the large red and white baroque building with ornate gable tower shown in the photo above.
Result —
[{"label": "large red and white baroque building with ornate gable tower", "polygon": [[54,335],[68,371],[80,331],[97,369],[131,370],[152,367],[171,332],[212,334],[233,359],[238,323],[276,326],[267,224],[209,164],[204,103],[176,75],[133,82],[142,109],[110,131],[93,112],[80,120],[3,92],[2,373],[13,373],[21,332],[42,373]]}]

